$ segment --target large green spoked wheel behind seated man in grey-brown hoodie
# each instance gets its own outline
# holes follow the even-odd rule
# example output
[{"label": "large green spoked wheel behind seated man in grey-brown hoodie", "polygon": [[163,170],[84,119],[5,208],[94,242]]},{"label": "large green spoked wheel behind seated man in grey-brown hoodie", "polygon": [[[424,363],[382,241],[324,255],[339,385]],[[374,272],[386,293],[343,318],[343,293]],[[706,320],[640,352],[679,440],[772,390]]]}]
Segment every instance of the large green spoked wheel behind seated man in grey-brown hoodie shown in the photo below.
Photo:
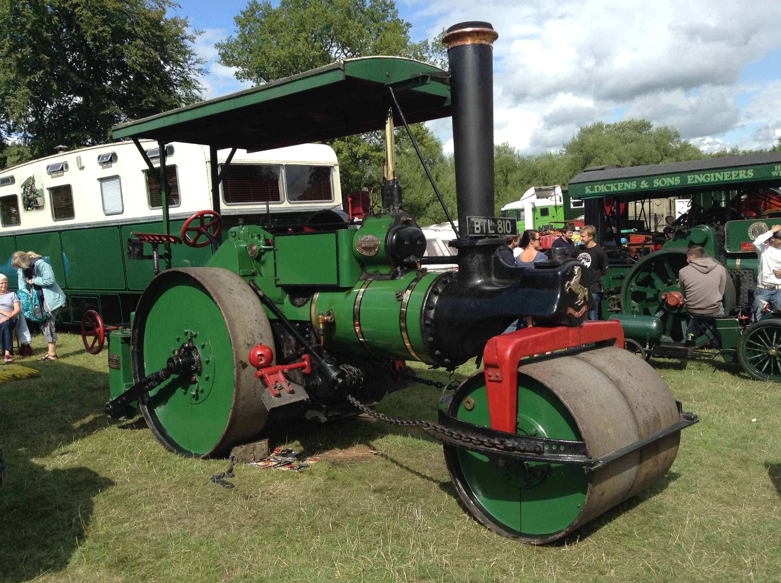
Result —
[{"label": "large green spoked wheel behind seated man in grey-brown hoodie", "polygon": [[[657,316],[662,320],[662,339],[683,342],[690,318],[686,307],[665,300],[666,294],[679,292],[678,272],[686,267],[686,249],[662,249],[640,259],[626,274],[621,288],[624,314]],[[735,304],[735,287],[728,278],[724,291],[724,312]],[[702,334],[695,343],[702,346],[708,336]]]}]

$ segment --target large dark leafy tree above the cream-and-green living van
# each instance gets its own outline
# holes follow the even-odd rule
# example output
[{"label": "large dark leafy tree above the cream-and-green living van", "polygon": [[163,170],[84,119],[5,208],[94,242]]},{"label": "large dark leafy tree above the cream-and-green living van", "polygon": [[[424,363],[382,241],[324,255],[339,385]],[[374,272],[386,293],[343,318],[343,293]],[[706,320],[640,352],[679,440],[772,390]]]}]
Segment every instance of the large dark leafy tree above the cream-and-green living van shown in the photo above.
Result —
[{"label": "large dark leafy tree above the cream-and-green living van", "polygon": [[38,157],[58,144],[105,142],[115,123],[198,101],[203,62],[187,19],[166,16],[173,6],[170,0],[0,0],[5,136]]}]

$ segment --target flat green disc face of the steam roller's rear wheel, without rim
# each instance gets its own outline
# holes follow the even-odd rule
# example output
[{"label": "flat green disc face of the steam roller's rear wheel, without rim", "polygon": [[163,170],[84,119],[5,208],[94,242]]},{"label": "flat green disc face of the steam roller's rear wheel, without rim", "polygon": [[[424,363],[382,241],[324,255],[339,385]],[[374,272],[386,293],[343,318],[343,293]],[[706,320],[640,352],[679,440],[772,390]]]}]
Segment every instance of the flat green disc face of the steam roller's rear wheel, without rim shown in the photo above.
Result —
[{"label": "flat green disc face of the steam roller's rear wheel, without rim", "polygon": [[[174,375],[150,396],[171,439],[185,450],[200,454],[219,442],[228,425],[234,398],[233,349],[223,315],[209,293],[200,284],[176,282],[169,279],[149,311],[144,332],[144,374],[166,365],[173,350],[184,342],[185,329],[198,332],[202,370],[197,385],[187,382],[184,375]],[[196,314],[197,324],[191,321]]]}]

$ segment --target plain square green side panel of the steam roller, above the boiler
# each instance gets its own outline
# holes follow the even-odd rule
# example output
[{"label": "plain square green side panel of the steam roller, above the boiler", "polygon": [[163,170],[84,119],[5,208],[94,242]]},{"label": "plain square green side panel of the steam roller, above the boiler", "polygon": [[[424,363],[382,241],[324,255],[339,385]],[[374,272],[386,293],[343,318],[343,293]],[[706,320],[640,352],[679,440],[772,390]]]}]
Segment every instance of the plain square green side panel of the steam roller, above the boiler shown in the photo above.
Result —
[{"label": "plain square green side panel of the steam roller, above the boiler", "polygon": [[277,235],[276,285],[338,286],[336,233]]}]

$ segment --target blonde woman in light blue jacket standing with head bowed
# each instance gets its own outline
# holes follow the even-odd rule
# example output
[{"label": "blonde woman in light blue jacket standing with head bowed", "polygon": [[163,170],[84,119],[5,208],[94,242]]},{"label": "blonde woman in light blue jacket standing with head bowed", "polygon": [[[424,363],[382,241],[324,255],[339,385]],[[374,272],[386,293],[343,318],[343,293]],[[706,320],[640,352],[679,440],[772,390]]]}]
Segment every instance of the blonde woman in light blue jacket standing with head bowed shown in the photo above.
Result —
[{"label": "blonde woman in light blue jacket standing with head bowed", "polygon": [[16,273],[19,275],[19,289],[30,293],[30,297],[33,293],[37,293],[43,300],[41,305],[46,312],[46,322],[41,322],[41,332],[48,342],[48,353],[38,360],[55,361],[57,360],[57,332],[54,322],[59,307],[65,304],[65,293],[62,293],[57,285],[52,266],[34,251],[16,251],[11,258],[11,265],[16,268]]}]

